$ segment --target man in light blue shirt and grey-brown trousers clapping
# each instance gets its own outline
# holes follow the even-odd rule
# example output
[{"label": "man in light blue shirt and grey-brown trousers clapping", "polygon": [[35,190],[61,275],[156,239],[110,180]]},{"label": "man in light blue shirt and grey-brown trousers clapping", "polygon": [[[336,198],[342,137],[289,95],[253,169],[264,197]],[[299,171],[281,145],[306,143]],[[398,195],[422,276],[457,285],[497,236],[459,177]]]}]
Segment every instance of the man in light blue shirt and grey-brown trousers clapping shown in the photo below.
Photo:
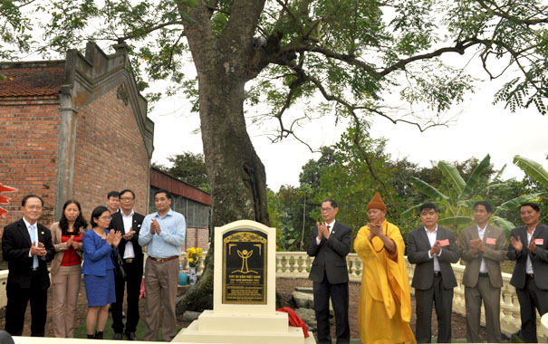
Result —
[{"label": "man in light blue shirt and grey-brown trousers clapping", "polygon": [[147,246],[149,258],[145,265],[145,330],[144,340],[158,340],[159,312],[162,339],[171,341],[177,334],[175,302],[177,298],[178,257],[185,242],[185,216],[171,210],[171,194],[159,189],[154,193],[156,213],[143,220],[139,245]]}]

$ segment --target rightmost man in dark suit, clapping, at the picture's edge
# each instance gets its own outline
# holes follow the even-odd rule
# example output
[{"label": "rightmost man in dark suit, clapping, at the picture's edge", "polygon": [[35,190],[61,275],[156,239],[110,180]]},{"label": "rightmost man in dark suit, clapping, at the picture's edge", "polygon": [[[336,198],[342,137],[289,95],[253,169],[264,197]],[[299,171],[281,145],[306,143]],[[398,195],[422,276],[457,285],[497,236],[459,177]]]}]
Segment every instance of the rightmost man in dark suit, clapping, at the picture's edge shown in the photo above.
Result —
[{"label": "rightmost man in dark suit, clapping, at the picture's edge", "polygon": [[520,304],[522,334],[536,343],[536,312],[548,311],[548,226],[540,225],[541,209],[534,203],[520,206],[524,226],[510,232],[508,259],[515,261],[510,284]]}]

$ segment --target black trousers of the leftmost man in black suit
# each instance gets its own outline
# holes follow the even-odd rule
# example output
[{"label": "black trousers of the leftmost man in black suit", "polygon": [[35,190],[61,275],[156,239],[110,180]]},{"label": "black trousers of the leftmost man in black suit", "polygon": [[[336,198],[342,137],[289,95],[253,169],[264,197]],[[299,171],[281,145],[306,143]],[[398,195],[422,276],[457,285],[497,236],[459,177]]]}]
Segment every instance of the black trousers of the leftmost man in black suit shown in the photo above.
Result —
[{"label": "black trousers of the leftmost man in black suit", "polygon": [[43,289],[41,272],[32,272],[30,288],[6,286],[5,331],[12,336],[21,336],[24,326],[24,312],[31,301],[31,336],[44,337],[47,317],[48,290]]}]

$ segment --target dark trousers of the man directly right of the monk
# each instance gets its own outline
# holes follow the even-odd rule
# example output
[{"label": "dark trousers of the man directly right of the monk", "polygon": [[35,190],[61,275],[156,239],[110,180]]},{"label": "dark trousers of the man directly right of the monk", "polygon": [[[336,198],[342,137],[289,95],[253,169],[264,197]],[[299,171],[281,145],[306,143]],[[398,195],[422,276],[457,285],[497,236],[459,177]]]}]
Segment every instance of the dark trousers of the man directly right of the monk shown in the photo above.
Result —
[{"label": "dark trousers of the man directly right of the monk", "polygon": [[451,342],[451,314],[453,308],[453,288],[445,289],[441,276],[434,276],[432,288],[415,289],[417,301],[417,327],[415,337],[418,343],[432,340],[432,302],[437,315],[437,342]]}]

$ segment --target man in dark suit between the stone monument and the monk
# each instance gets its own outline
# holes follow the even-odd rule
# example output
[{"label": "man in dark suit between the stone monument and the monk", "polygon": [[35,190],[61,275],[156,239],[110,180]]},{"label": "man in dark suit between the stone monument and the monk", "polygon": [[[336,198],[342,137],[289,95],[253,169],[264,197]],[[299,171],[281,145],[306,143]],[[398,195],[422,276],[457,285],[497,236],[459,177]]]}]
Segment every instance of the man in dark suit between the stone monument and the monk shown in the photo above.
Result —
[{"label": "man in dark suit between the stone monument and the monk", "polygon": [[314,289],[314,311],[320,344],[331,344],[329,324],[329,300],[335,312],[337,344],[350,342],[348,321],[348,266],[346,255],[351,250],[352,230],[348,225],[335,221],[339,212],[337,202],[322,202],[323,223],[312,228],[310,244],[306,252],[314,257],[310,276]]}]

